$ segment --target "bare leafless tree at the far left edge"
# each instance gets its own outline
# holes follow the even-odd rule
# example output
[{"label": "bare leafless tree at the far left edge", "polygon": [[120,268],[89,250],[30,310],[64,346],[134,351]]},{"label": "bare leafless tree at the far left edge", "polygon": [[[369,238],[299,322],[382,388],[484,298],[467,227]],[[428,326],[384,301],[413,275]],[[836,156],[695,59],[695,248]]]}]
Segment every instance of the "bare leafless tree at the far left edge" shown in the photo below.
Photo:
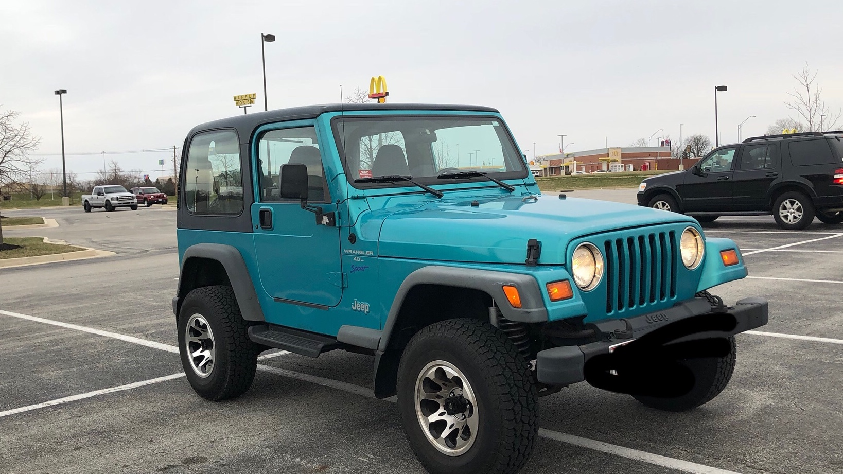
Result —
[{"label": "bare leafless tree at the far left edge", "polygon": [[[44,160],[30,156],[30,152],[38,148],[40,138],[32,135],[29,123],[15,125],[19,116],[20,113],[14,110],[0,113],[0,188],[19,183],[28,175],[30,166]],[[0,245],[3,245],[2,225]]]}]

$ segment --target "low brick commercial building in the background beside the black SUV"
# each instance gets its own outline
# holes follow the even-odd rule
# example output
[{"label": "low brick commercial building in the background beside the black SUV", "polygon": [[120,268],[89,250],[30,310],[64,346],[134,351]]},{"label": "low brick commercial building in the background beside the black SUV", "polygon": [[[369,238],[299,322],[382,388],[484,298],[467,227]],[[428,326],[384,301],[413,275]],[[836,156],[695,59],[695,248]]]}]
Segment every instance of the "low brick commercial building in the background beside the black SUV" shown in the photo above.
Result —
[{"label": "low brick commercial building in the background beside the black SUV", "polygon": [[[574,172],[681,170],[698,158],[674,158],[670,147],[597,148],[582,152],[550,154],[540,157],[545,176],[571,175]],[[681,165],[681,168],[680,168]]]}]

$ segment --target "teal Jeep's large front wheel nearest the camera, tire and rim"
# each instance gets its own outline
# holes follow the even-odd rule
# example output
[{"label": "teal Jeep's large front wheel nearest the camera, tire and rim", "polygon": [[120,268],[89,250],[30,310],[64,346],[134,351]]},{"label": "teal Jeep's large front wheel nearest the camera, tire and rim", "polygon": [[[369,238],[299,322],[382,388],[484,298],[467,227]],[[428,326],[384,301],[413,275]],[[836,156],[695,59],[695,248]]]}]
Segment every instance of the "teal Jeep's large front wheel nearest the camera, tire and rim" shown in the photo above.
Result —
[{"label": "teal Jeep's large front wheel nearest the camera, tire and rim", "polygon": [[401,354],[398,406],[410,446],[432,474],[514,473],[538,434],[538,395],[512,341],[481,320],[418,331]]}]

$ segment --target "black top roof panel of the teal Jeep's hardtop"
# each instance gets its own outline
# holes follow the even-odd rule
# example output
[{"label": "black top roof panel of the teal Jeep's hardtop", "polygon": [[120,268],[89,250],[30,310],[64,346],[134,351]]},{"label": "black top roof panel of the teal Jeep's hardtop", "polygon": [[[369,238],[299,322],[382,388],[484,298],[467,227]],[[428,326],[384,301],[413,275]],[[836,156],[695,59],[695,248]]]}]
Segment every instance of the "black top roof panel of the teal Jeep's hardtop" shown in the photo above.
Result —
[{"label": "black top roof panel of the teal Jeep's hardtop", "polygon": [[313,119],[325,112],[356,112],[357,110],[468,110],[471,112],[492,112],[498,113],[497,109],[482,105],[455,105],[455,104],[322,104],[303,105],[301,107],[290,107],[288,109],[269,110],[244,114],[242,116],[231,116],[228,118],[208,121],[193,127],[191,135],[204,130],[217,128],[236,128],[240,140],[249,139],[250,133],[256,127],[275,121],[291,121]]}]

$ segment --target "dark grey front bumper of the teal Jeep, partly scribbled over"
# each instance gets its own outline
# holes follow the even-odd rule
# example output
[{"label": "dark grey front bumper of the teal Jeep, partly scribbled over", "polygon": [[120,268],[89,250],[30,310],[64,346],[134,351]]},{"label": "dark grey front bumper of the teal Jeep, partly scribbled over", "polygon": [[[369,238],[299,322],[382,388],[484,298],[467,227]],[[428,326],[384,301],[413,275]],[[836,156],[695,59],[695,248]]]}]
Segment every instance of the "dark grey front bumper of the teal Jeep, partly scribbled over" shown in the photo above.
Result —
[{"label": "dark grey front bumper of the teal Jeep, partly scribbled over", "polygon": [[[726,307],[726,314],[732,315],[737,324],[731,331],[706,331],[683,337],[679,340],[705,337],[728,337],[767,324],[768,305],[765,299],[745,298],[734,306]],[[679,320],[712,314],[711,304],[704,298],[694,298],[667,310],[640,315],[627,320],[602,320],[593,323],[593,328],[608,335],[604,340],[583,346],[565,346],[545,349],[536,354],[536,379],[551,386],[566,386],[585,380],[585,364],[589,358],[609,353],[609,347],[631,342],[652,331],[666,327]],[[628,323],[628,324],[627,324]]]}]

